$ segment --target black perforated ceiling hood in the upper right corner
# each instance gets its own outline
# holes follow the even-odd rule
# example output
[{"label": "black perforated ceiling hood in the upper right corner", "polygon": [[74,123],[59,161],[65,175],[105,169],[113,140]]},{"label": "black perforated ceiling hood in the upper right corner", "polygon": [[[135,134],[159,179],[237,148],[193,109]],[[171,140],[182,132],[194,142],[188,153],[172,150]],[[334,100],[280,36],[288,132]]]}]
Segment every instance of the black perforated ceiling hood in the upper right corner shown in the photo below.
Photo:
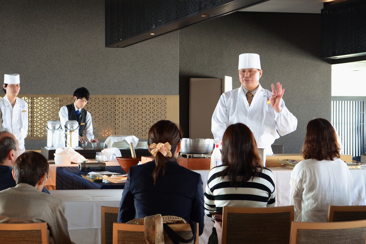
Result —
[{"label": "black perforated ceiling hood in the upper right corner", "polygon": [[365,16],[365,0],[326,5],[321,10],[321,57],[334,60],[366,55]]}]

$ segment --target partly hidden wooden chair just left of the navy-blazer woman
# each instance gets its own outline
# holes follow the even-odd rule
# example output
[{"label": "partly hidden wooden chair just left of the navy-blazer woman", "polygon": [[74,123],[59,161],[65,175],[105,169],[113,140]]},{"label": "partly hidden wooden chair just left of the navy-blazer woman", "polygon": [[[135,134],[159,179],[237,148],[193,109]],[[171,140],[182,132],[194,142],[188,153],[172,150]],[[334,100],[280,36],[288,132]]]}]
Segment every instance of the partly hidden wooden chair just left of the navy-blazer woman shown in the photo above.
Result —
[{"label": "partly hidden wooden chair just left of the navy-blazer woman", "polygon": [[113,243],[113,223],[117,222],[119,207],[101,207],[102,244]]}]

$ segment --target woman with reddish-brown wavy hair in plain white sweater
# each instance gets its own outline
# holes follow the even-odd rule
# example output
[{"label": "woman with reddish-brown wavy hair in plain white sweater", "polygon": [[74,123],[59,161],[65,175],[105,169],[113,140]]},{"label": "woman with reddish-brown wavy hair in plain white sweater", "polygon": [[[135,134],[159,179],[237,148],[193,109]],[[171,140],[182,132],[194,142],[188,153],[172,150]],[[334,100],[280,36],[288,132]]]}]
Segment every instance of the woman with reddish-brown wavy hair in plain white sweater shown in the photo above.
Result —
[{"label": "woman with reddish-brown wavy hair in plain white sweater", "polygon": [[307,124],[302,151],[305,160],[291,173],[290,204],[295,221],[326,222],[328,205],[349,205],[352,175],[340,160],[340,145],[332,124],[313,119]]}]

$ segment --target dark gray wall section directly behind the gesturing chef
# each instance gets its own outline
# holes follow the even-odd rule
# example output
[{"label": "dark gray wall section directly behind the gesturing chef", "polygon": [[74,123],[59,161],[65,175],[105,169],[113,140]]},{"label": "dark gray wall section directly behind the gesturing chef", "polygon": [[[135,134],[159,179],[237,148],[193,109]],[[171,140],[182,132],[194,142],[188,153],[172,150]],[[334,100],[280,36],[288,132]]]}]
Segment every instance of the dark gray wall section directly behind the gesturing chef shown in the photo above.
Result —
[{"label": "dark gray wall section directly behind the gesturing chef", "polygon": [[[188,131],[189,78],[233,77],[240,86],[240,53],[261,56],[261,85],[281,82],[298,129],[280,137],[285,153],[300,153],[307,122],[330,119],[331,66],[320,59],[320,14],[235,12],[179,31],[180,125]],[[208,88],[209,89],[209,88]],[[185,135],[188,135],[186,133]]]}]

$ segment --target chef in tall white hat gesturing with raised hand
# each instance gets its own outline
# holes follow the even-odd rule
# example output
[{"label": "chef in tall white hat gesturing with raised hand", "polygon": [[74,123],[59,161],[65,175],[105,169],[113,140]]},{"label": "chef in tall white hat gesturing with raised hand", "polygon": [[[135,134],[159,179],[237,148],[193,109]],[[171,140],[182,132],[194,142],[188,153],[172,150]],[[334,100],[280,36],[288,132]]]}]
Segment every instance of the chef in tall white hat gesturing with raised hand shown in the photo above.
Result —
[{"label": "chef in tall white hat gesturing with raised hand", "polygon": [[222,139],[226,128],[235,123],[247,125],[258,148],[272,154],[271,145],[281,136],[296,130],[297,119],[282,99],[285,89],[277,82],[272,92],[262,88],[261,62],[256,53],[239,55],[239,88],[221,95],[212,115],[211,131],[215,140]]}]

